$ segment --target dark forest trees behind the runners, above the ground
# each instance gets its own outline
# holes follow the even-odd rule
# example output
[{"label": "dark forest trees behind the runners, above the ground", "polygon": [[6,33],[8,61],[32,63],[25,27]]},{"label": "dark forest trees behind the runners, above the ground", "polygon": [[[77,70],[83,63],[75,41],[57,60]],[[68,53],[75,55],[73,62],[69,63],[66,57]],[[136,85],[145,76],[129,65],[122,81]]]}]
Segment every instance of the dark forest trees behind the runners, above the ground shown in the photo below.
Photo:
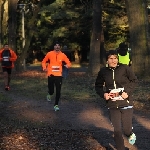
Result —
[{"label": "dark forest trees behind the runners, above the ground", "polygon": [[126,42],[137,76],[149,75],[149,0],[2,0],[0,47],[18,55],[16,70],[41,61],[58,40],[88,73],[105,65],[105,51]]}]

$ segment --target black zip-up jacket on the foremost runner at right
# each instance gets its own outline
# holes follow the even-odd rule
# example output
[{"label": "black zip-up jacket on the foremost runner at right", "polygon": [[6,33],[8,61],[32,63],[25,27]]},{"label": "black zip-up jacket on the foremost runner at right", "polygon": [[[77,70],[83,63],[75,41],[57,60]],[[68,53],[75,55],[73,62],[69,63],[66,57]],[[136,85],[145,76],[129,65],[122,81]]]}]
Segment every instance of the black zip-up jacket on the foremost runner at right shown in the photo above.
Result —
[{"label": "black zip-up jacket on the foremost runner at right", "polygon": [[128,94],[127,99],[106,101],[109,108],[121,108],[133,105],[132,94],[136,84],[137,77],[131,68],[127,65],[120,64],[116,68],[103,67],[99,71],[95,82],[95,90],[100,97],[104,98],[104,93],[109,93],[110,89],[124,88],[124,92]]}]

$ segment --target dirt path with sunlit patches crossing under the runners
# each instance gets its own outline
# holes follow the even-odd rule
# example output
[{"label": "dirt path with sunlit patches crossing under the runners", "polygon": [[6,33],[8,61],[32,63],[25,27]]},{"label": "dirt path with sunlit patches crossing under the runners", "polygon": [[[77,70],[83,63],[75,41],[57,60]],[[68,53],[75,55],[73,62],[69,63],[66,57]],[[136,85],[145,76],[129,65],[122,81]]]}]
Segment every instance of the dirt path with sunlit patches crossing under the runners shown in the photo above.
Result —
[{"label": "dirt path with sunlit patches crossing under the runners", "polygon": [[[3,114],[5,113],[8,118],[17,117],[18,120],[23,119],[40,125],[46,124],[59,130],[86,130],[92,134],[90,144],[102,147],[113,147],[114,145],[113,128],[109,121],[107,109],[101,103],[93,101],[68,102],[62,97],[60,111],[54,112],[53,101],[35,101],[25,97],[18,98],[15,95],[11,95],[11,97],[14,100],[7,105],[6,112],[3,110]],[[134,112],[133,126],[137,135],[137,142],[131,146],[126,141],[127,147],[131,150],[149,150],[150,117],[148,114]]]}]

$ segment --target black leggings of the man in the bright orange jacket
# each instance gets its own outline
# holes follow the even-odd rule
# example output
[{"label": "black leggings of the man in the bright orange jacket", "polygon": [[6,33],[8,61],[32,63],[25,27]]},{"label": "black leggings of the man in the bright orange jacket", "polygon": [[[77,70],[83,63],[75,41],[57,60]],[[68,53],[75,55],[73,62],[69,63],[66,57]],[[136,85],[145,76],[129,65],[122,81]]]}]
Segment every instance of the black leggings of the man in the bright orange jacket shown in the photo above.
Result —
[{"label": "black leggings of the man in the bright orange jacket", "polygon": [[50,95],[54,94],[54,86],[56,87],[56,97],[55,104],[58,105],[60,95],[61,95],[61,85],[62,85],[62,77],[61,76],[48,76],[48,93]]}]

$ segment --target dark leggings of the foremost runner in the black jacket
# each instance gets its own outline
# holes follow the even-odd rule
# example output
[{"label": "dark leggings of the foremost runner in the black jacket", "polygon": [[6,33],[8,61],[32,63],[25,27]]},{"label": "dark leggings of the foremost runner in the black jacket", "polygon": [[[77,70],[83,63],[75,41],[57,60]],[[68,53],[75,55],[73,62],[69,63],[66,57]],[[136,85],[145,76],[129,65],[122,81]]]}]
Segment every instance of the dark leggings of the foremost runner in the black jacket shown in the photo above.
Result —
[{"label": "dark leggings of the foremost runner in the black jacket", "polygon": [[133,108],[110,109],[110,120],[114,127],[114,140],[117,150],[125,150],[122,129],[124,135],[129,137],[132,134]]}]

